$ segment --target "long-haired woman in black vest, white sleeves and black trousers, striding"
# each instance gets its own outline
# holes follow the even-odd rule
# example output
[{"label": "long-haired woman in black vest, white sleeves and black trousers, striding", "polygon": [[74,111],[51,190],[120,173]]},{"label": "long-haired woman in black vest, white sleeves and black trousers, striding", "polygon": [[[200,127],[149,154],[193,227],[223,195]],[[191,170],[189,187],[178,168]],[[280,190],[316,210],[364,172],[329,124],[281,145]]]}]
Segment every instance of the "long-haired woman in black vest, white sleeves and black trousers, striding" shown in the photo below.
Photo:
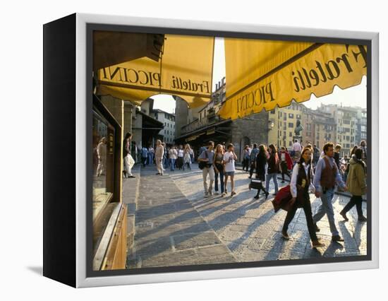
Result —
[{"label": "long-haired woman in black vest, white sleeves and black trousers, striding", "polygon": [[303,148],[301,159],[293,167],[290,183],[292,199],[290,201],[290,208],[287,212],[286,220],[284,220],[281,235],[283,235],[284,239],[286,240],[290,239],[289,235],[287,234],[289,224],[295,216],[296,210],[298,208],[303,208],[303,211],[305,211],[305,218],[307,221],[308,233],[310,234],[310,240],[313,244],[313,248],[317,248],[324,247],[325,244],[322,244],[322,242],[318,240],[315,233],[313,213],[311,212],[310,196],[308,194],[309,188],[311,188],[313,192],[315,191],[315,187],[311,181],[311,174],[311,149]]}]

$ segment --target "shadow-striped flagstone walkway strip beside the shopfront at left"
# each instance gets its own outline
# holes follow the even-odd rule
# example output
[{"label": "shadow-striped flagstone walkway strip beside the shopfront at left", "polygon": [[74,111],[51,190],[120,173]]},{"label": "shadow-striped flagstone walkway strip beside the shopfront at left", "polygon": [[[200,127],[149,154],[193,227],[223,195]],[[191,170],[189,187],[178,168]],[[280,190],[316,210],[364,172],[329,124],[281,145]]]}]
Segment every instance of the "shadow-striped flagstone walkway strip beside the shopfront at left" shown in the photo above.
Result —
[{"label": "shadow-striped flagstone walkway strip beside the shopfront at left", "polygon": [[236,262],[169,175],[142,168],[128,268]]}]

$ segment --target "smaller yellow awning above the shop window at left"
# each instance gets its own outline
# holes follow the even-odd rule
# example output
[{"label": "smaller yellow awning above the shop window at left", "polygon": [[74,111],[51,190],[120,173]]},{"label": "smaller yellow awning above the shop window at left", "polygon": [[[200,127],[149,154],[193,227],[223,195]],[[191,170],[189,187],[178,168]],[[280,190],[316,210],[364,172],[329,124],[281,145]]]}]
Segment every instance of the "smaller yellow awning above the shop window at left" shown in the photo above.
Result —
[{"label": "smaller yellow awning above the shop window at left", "polygon": [[200,107],[212,95],[214,37],[164,35],[162,57],[141,57],[99,69],[97,94],[140,103],[152,95],[177,95]]}]

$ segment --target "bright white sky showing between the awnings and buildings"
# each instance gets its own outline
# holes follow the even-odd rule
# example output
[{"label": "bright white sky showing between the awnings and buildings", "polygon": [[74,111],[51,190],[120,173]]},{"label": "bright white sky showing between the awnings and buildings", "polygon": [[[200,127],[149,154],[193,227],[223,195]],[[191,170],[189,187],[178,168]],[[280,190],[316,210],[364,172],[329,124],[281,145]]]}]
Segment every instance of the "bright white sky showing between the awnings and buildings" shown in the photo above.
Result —
[{"label": "bright white sky showing between the awnings and buildings", "polygon": [[[225,76],[225,52],[224,52],[224,38],[216,37],[214,44],[214,63],[213,63],[213,86],[212,90],[216,88],[216,84]],[[227,88],[226,78],[226,88]],[[175,110],[175,100],[171,95],[154,95],[154,108],[172,113]],[[363,77],[360,85],[341,90],[337,86],[334,87],[333,93],[316,98],[312,95],[310,100],[303,102],[306,107],[316,109],[320,104],[337,104],[344,107],[366,107],[366,78]]]}]

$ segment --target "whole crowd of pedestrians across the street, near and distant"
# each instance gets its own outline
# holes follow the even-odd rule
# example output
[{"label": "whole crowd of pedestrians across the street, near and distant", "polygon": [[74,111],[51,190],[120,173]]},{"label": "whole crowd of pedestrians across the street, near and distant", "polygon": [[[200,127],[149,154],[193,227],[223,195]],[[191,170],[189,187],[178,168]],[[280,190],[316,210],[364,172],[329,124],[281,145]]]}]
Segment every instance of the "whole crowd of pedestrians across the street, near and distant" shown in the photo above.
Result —
[{"label": "whole crowd of pedestrians across the street, near and distant", "polygon": [[[104,153],[104,142],[100,141],[97,153]],[[125,177],[133,177],[131,174],[133,162],[128,156],[131,153],[130,145],[131,134],[128,133],[123,143]],[[160,140],[157,140],[155,148],[152,146],[141,148],[140,154],[143,167],[156,165],[157,175],[164,175],[164,170],[168,167],[171,171],[191,170],[195,160],[195,151],[189,144],[166,147],[166,144]],[[350,201],[340,212],[345,221],[348,220],[346,213],[353,206],[356,206],[358,220],[367,221],[362,209],[363,195],[366,193],[366,158],[365,141],[361,141],[360,146],[354,146],[350,157],[345,154],[342,158],[339,144],[334,146],[333,143],[326,143],[321,152],[316,145],[305,143],[302,146],[298,140],[293,142],[290,151],[285,147],[278,150],[274,144],[257,146],[254,143],[253,146],[245,146],[241,152],[243,172],[249,172],[251,179],[249,188],[257,189],[255,199],[260,198],[260,192],[265,195],[265,199],[268,198],[270,182],[274,183],[273,195],[278,194],[278,175],[281,175],[281,183],[289,181],[291,200],[281,234],[284,239],[289,240],[287,232],[289,224],[297,209],[303,208],[313,247],[324,245],[316,234],[320,232],[317,223],[324,216],[327,216],[329,222],[332,241],[344,241],[334,218],[332,201],[336,191],[348,191],[351,194]],[[225,146],[225,143],[222,143],[214,146],[214,142],[210,141],[207,146],[200,148],[197,159],[198,166],[202,170],[205,198],[214,194],[226,196],[228,191],[230,191],[230,196],[236,195],[234,176],[238,156],[234,151],[234,144],[229,143]],[[104,160],[100,159],[99,155],[97,175],[103,172],[104,164]],[[320,199],[314,214],[310,203],[310,192]]]}]

